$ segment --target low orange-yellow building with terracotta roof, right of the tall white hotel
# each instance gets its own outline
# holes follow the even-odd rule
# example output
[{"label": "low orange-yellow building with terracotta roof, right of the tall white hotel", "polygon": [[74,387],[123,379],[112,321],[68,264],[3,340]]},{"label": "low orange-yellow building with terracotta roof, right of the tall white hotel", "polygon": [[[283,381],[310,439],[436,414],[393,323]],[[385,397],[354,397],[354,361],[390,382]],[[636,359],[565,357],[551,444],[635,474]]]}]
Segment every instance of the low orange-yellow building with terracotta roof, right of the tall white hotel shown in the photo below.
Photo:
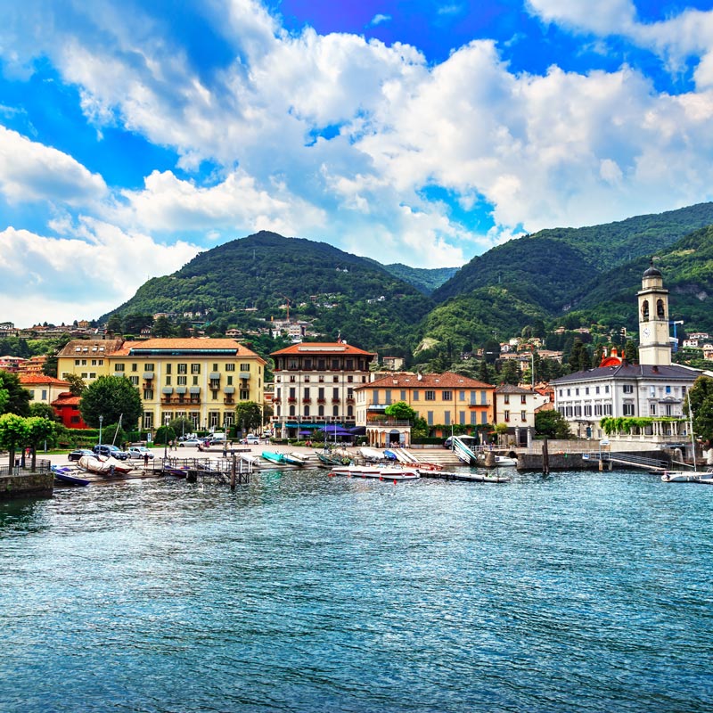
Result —
[{"label": "low orange-yellow building with terracotta roof, right of the tall white hotel", "polygon": [[[450,435],[458,424],[475,429],[493,423],[495,386],[458,373],[393,373],[354,389],[356,425],[365,426],[369,444],[408,444],[407,422],[387,417],[387,406],[405,401],[428,423]],[[441,434],[443,435],[443,434]]]}]

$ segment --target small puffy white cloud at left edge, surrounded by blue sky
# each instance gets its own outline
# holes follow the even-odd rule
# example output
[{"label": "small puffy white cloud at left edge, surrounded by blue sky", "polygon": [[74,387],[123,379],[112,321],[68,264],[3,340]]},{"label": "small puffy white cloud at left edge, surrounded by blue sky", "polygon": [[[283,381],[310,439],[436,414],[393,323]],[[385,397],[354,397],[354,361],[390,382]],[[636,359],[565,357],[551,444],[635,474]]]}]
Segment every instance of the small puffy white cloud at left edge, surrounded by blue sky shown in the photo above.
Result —
[{"label": "small puffy white cloud at left edge, surrounded by blue sky", "polygon": [[0,193],[7,201],[86,205],[106,192],[102,176],[71,156],[0,126]]}]

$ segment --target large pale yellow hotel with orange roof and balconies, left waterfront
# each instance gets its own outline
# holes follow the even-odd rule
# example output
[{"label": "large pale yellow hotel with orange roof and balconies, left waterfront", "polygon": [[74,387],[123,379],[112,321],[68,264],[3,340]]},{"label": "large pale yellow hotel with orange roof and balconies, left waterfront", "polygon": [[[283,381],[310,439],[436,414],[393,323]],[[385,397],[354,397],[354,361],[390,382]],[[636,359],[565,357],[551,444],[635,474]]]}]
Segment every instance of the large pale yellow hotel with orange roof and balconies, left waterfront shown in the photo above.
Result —
[{"label": "large pale yellow hotel with orange roof and balconies, left waterfront", "polygon": [[229,428],[241,401],[263,403],[265,360],[229,339],[74,340],[57,373],[87,382],[126,376],[143,401],[143,429],[178,417],[196,430]]}]

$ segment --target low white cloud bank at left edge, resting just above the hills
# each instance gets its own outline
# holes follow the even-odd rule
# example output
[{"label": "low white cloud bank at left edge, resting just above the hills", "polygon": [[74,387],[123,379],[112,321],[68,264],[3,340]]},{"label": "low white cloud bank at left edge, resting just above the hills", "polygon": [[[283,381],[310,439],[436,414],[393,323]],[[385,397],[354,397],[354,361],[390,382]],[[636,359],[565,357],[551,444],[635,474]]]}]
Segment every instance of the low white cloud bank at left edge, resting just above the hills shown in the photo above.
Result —
[{"label": "low white cloud bank at left edge, resting just above the hills", "polygon": [[0,232],[0,320],[27,325],[94,318],[199,250],[185,242],[161,245],[91,218],[74,233],[77,238],[56,239],[12,227]]}]

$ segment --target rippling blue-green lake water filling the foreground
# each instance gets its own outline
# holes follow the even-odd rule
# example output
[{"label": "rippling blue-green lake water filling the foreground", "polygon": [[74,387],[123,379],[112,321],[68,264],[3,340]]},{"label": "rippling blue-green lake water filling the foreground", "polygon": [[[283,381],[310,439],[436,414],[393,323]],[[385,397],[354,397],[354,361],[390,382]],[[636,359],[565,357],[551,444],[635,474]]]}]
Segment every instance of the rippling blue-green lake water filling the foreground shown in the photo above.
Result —
[{"label": "rippling blue-green lake water filling the foreground", "polygon": [[0,504],[0,710],[709,711],[711,509],[636,472]]}]

